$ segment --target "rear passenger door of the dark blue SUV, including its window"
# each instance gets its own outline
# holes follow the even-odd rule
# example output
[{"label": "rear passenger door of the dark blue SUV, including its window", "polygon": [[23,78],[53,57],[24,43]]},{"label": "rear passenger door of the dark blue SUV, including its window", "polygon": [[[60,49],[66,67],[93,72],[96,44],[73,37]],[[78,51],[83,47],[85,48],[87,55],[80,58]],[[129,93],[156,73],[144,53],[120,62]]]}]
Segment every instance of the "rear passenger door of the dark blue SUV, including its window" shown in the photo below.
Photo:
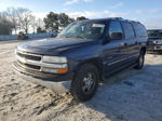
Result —
[{"label": "rear passenger door of the dark blue SUV, including its window", "polygon": [[134,63],[138,57],[138,42],[135,36],[135,30],[130,22],[122,22],[124,31],[125,51],[127,53],[127,64]]}]

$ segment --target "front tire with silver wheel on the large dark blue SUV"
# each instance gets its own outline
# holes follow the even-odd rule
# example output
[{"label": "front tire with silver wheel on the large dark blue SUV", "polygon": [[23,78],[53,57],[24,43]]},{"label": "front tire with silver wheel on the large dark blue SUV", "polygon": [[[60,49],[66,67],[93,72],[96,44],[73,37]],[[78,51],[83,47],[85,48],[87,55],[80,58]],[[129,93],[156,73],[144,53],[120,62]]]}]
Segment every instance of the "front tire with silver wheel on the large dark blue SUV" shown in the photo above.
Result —
[{"label": "front tire with silver wheel on the large dark blue SUV", "polygon": [[85,102],[91,99],[98,86],[99,72],[92,64],[82,65],[71,83],[71,94],[75,99]]}]

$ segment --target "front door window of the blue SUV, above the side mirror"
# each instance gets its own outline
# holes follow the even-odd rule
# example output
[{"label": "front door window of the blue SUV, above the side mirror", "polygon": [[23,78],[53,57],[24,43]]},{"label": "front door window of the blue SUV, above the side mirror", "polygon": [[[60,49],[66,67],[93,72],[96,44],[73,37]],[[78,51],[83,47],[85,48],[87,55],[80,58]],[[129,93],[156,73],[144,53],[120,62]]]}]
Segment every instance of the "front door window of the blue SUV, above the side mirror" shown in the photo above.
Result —
[{"label": "front door window of the blue SUV, above the side mirror", "polygon": [[110,22],[110,25],[109,25],[109,36],[112,32],[121,32],[121,33],[123,33],[120,22],[116,22],[116,21]]}]

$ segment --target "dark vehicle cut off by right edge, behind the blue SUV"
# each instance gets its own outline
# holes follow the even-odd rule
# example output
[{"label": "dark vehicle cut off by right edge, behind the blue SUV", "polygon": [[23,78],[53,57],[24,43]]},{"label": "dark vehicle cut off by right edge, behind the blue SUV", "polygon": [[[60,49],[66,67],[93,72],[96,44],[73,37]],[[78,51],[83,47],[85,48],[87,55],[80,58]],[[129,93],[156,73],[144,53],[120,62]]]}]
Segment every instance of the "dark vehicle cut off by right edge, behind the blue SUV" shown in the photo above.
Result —
[{"label": "dark vehicle cut off by right edge, behind the blue SUV", "polygon": [[148,51],[162,52],[162,29],[148,30]]}]

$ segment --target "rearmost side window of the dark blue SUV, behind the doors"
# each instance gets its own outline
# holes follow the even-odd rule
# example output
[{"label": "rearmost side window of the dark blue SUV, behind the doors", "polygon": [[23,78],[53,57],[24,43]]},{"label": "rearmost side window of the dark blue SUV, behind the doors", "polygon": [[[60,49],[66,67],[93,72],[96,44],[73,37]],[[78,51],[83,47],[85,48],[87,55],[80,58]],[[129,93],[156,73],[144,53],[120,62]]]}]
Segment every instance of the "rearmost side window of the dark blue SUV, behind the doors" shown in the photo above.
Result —
[{"label": "rearmost side window of the dark blue SUV, behind the doors", "polygon": [[144,25],[138,24],[138,23],[133,23],[133,27],[135,29],[136,36],[137,37],[146,37],[147,31]]}]

